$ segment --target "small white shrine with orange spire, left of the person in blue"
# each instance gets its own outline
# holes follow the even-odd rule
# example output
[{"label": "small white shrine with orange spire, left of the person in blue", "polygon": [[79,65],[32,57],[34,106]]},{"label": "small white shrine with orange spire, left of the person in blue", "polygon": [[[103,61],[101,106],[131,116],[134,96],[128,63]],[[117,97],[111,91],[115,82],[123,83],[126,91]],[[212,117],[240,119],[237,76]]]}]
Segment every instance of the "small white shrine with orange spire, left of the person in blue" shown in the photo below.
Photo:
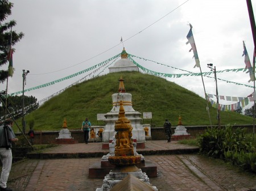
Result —
[{"label": "small white shrine with orange spire, left of the person in blue", "polygon": [[55,141],[52,141],[52,144],[65,145],[75,143],[78,143],[78,141],[75,141],[75,139],[71,137],[71,133],[68,130],[67,120],[64,118],[62,129],[59,132],[59,137],[57,137]]}]

